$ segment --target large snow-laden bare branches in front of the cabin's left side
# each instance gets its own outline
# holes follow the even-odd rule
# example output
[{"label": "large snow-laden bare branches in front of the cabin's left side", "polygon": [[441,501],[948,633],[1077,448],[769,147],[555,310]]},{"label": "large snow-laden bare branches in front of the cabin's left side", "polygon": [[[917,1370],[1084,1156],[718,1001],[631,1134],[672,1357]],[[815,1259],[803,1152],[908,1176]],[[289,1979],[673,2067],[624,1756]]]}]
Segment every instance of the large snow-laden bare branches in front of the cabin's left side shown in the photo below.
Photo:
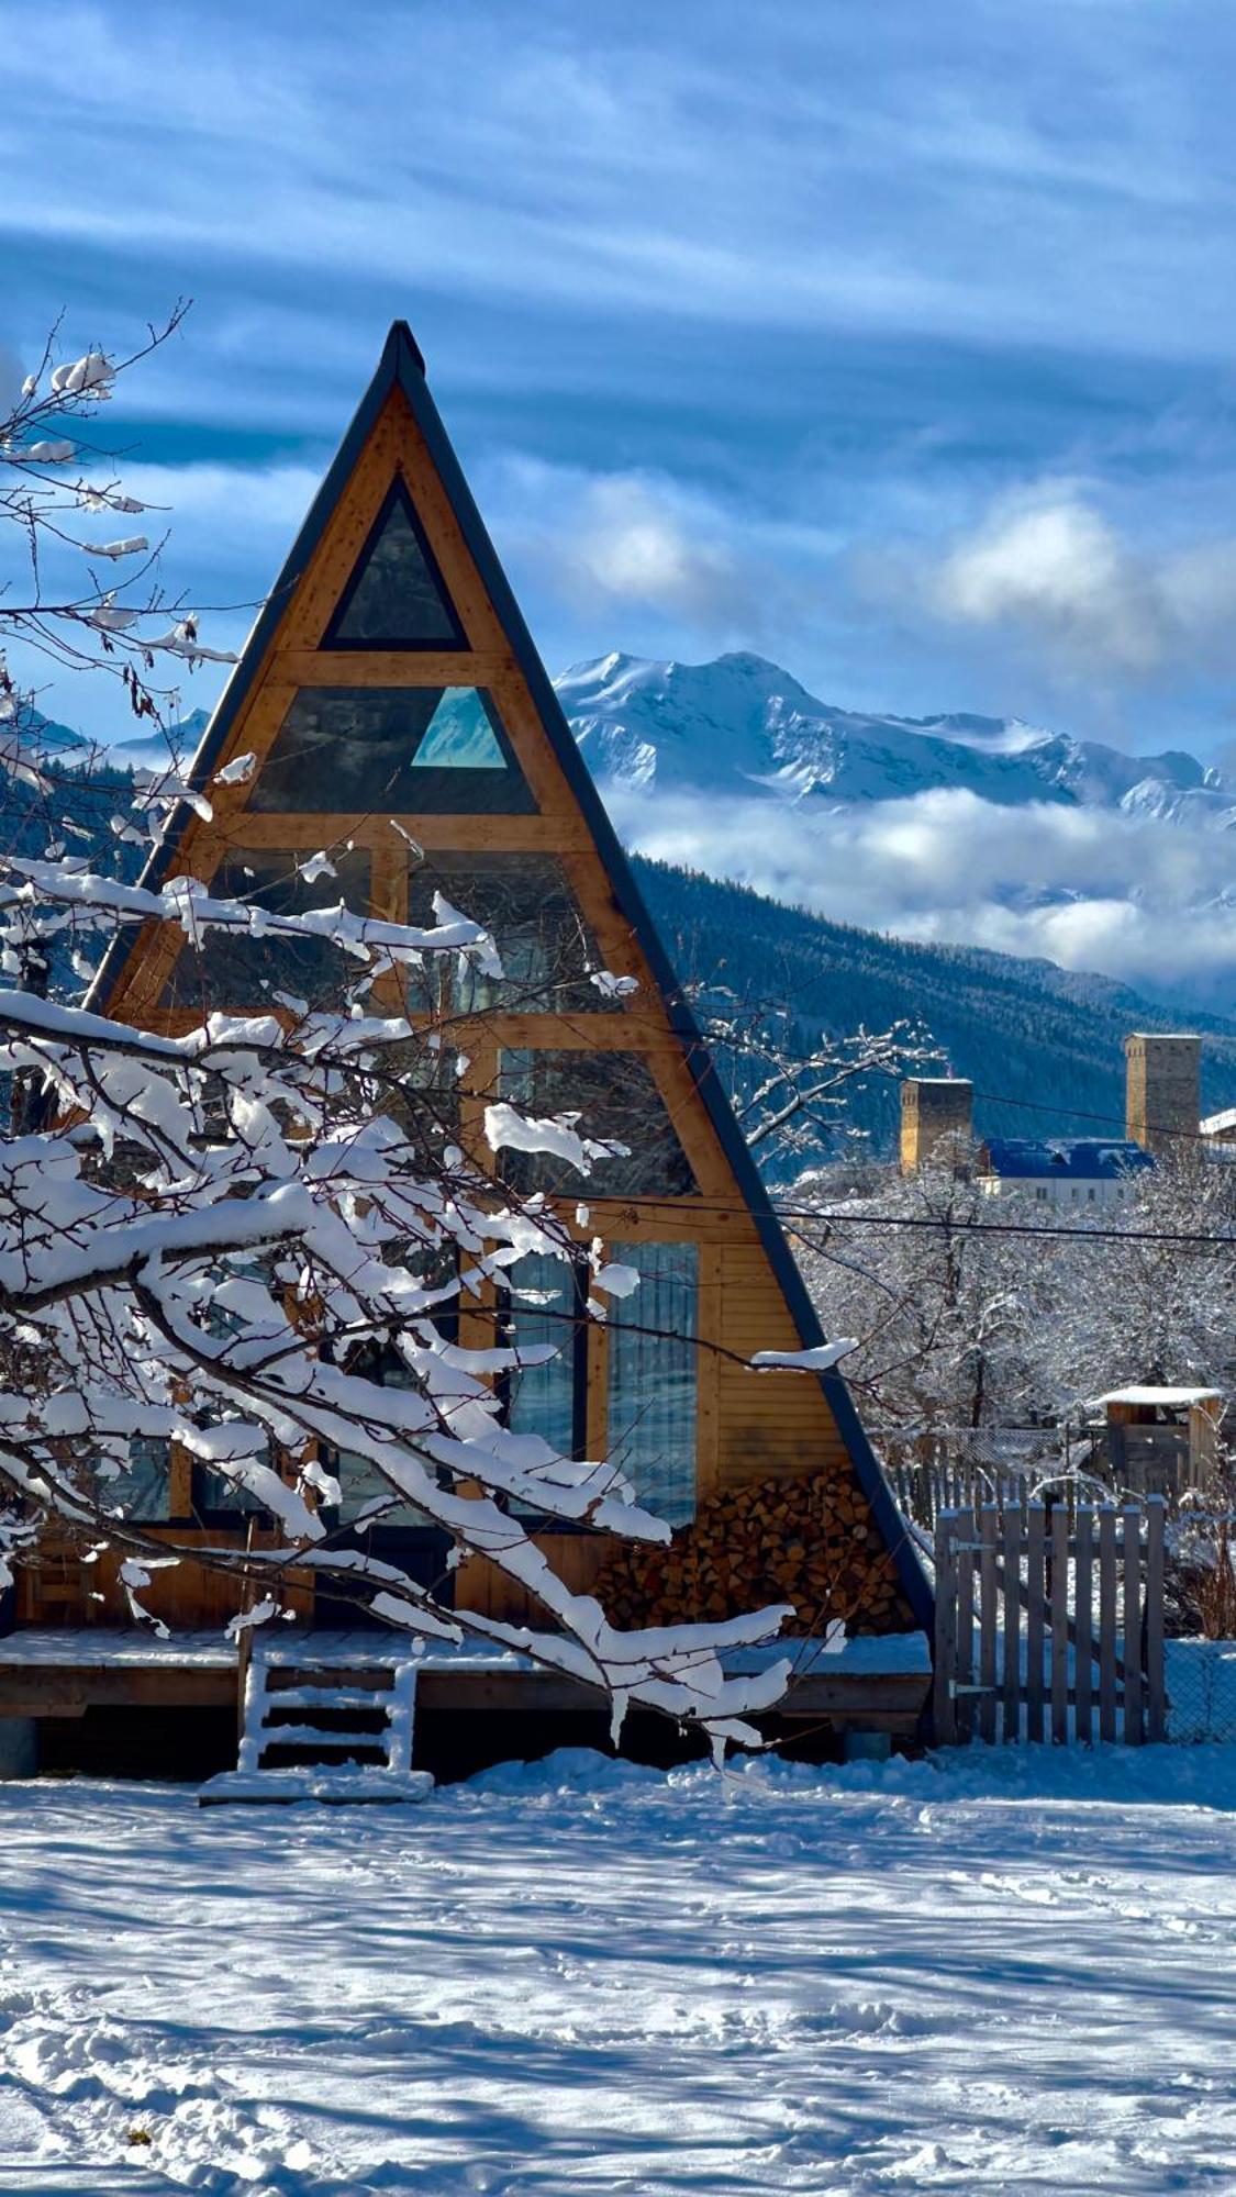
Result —
[{"label": "large snow-laden bare branches in front of the cabin's left side", "polygon": [[545,1613],[541,1628],[471,1615],[473,1630],[605,1687],[618,1709],[750,1736],[743,1720],[776,1700],[787,1670],[726,1679],[717,1657],[768,1639],[787,1613],[611,1628],[556,1577],[534,1531],[658,1542],[669,1529],[611,1463],[559,1457],[501,1424],[495,1375],[543,1362],[554,1342],[466,1347],[453,1334],[451,1314],[488,1301],[528,1252],[587,1268],[589,1318],[636,1287],[600,1241],[581,1241],[539,1195],[510,1197],[499,1173],[508,1149],[552,1151],[585,1193],[607,1147],[576,1118],[488,1103],[488,1156],[466,1156],[435,1114],[438,1039],[367,1006],[383,971],[442,956],[499,973],[499,945],[444,903],[431,929],[411,929],[343,907],[271,916],[185,879],[125,888],[68,861],[7,859],[0,879],[0,943],[37,905],[44,927],[79,934],[158,918],[194,938],[328,936],[356,964],[334,1013],[216,1013],[187,1037],[0,993],[0,1066],[40,1092],[24,1134],[0,1145],[0,1476],[24,1509],[11,1542],[55,1516],[123,1549],[141,1610],[150,1566],[174,1560],[176,1540],[130,1523],[110,1487],[134,1441],[174,1443],[279,1520],[279,1547],[211,1555],[244,1569],[266,1610],[293,1573],[314,1573],[394,1626],[455,1639],[449,1595],[330,1531],[328,1459],[347,1452],[383,1487],[372,1518],[416,1505],[449,1536],[453,1564],[486,1558]]}]

